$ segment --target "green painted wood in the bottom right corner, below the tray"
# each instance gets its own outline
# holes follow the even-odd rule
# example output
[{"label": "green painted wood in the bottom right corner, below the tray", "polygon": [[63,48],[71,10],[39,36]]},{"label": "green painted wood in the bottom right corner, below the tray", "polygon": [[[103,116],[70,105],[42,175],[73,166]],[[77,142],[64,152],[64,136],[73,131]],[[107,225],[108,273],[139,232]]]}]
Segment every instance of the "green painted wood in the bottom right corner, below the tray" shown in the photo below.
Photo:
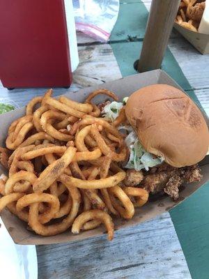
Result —
[{"label": "green painted wood in the bottom right corner, below the tray", "polygon": [[170,215],[193,279],[209,278],[209,183]]}]

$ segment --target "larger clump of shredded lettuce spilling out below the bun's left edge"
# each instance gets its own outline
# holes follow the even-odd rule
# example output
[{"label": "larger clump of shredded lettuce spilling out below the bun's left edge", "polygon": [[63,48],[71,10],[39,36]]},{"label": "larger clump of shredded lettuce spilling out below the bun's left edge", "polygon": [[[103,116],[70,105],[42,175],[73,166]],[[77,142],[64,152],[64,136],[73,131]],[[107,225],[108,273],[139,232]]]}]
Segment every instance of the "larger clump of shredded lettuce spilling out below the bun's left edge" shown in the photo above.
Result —
[{"label": "larger clump of shredded lettuce spilling out below the bun's left edge", "polygon": [[125,138],[125,144],[130,151],[130,158],[127,165],[125,165],[127,169],[136,169],[137,171],[141,169],[148,170],[149,167],[160,165],[163,161],[162,158],[154,158],[151,153],[143,149],[133,129]]}]

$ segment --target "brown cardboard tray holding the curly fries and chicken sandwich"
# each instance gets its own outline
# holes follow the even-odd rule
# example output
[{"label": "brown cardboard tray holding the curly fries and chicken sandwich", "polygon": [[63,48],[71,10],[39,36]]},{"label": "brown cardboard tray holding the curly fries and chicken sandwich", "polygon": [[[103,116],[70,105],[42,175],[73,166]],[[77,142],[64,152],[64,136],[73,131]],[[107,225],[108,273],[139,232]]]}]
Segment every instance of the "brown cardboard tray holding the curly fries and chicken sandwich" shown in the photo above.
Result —
[{"label": "brown cardboard tray holding the curly fries and chicken sandwich", "polygon": [[[119,98],[122,100],[125,96],[130,96],[130,94],[137,89],[147,86],[150,84],[169,84],[172,86],[176,86],[176,88],[180,89],[180,86],[174,82],[171,77],[169,77],[162,70],[153,70],[147,73],[141,73],[137,75],[132,75],[130,77],[125,77],[121,80],[115,80],[114,82],[107,82],[105,84],[101,84],[98,86],[88,87],[86,89],[81,89],[77,91],[77,93],[67,93],[66,96],[72,98],[72,100],[77,100],[79,102],[84,101],[88,93],[95,89],[106,88],[111,91],[114,91]],[[102,101],[106,99],[107,96],[98,96],[96,98],[96,102]],[[8,127],[10,123],[12,123],[15,119],[22,116],[25,112],[25,107],[22,107],[18,110],[8,112],[6,114],[0,115],[0,127],[1,127],[1,135],[0,135],[0,146],[4,146],[5,139],[8,133]],[[207,164],[208,163],[208,164]],[[199,183],[192,183],[191,185],[187,184],[186,187],[180,192],[180,199],[178,202],[181,202],[183,199],[192,195],[194,191],[199,189],[204,183],[206,183],[209,179],[209,161],[206,162],[204,160],[201,163],[201,169],[203,172],[203,179]],[[0,174],[5,172],[5,169],[0,167]],[[178,202],[173,202],[170,197],[164,196],[161,197],[160,200],[156,200],[155,202],[148,202],[145,206],[141,207],[135,212],[134,218],[132,220],[124,220],[114,218],[114,223],[116,229],[123,229],[125,227],[130,227],[134,225],[139,225],[140,223],[149,220],[150,218],[154,218],[157,215],[160,215],[173,206],[176,206]],[[80,234],[72,234],[70,229],[64,232],[63,234],[59,234],[56,236],[39,236],[30,232],[26,229],[26,223],[22,220],[19,220],[16,216],[10,213],[7,209],[4,209],[1,213],[1,218],[3,223],[6,225],[10,236],[12,236],[15,243],[20,244],[52,244],[52,243],[63,243],[70,241],[79,241],[81,239],[88,239],[93,236],[101,236],[104,234],[104,227],[99,227],[97,229],[93,229],[91,231],[81,232]]]}]

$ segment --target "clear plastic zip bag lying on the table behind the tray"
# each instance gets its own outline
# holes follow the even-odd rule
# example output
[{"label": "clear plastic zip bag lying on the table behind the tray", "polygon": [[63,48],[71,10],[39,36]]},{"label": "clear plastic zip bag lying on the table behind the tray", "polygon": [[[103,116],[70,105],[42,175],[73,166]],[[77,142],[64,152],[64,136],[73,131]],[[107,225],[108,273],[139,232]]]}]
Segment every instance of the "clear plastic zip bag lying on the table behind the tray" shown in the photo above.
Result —
[{"label": "clear plastic zip bag lying on the table behind the tray", "polygon": [[118,18],[119,0],[72,0],[75,26],[86,35],[107,42]]}]

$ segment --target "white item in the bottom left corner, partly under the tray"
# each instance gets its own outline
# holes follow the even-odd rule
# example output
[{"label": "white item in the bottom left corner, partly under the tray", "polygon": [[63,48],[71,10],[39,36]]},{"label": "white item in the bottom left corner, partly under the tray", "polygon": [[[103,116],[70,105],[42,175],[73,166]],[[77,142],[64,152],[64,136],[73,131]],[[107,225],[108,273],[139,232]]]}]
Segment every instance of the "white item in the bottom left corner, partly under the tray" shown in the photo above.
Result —
[{"label": "white item in the bottom left corner, partly under the tray", "polygon": [[37,279],[36,246],[17,245],[0,218],[0,278]]}]

